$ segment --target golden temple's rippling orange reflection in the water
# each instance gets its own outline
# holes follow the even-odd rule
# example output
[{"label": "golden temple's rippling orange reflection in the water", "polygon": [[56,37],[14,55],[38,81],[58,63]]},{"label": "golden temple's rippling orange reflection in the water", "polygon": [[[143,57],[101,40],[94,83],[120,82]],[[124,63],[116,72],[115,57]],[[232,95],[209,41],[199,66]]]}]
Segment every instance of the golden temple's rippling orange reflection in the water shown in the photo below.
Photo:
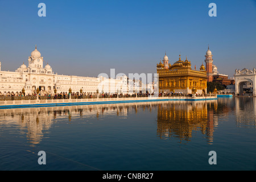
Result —
[{"label": "golden temple's rippling orange reflection in the water", "polygon": [[217,106],[217,100],[184,102],[174,101],[159,105],[158,136],[162,139],[179,138],[182,142],[190,141],[195,131],[207,135],[208,142],[213,142],[214,125],[217,118],[213,117],[213,110],[207,105]]}]

